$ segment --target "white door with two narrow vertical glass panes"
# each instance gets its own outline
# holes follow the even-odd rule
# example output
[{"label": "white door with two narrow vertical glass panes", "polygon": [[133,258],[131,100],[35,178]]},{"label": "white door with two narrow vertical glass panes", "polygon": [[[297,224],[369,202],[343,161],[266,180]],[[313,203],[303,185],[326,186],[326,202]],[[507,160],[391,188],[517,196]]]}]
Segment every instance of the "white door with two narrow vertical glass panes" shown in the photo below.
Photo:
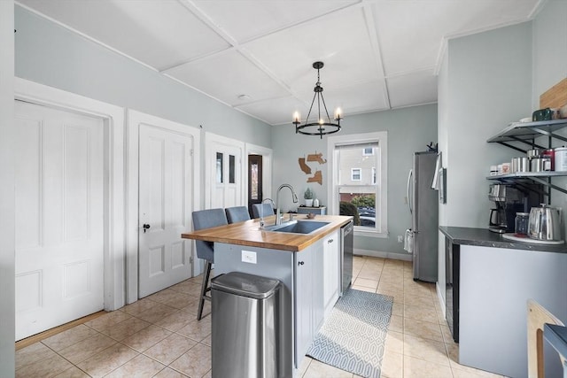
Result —
[{"label": "white door with two narrow vertical glass panes", "polygon": [[214,141],[209,147],[209,177],[211,184],[209,208],[245,205],[242,160],[244,150],[238,145]]}]

